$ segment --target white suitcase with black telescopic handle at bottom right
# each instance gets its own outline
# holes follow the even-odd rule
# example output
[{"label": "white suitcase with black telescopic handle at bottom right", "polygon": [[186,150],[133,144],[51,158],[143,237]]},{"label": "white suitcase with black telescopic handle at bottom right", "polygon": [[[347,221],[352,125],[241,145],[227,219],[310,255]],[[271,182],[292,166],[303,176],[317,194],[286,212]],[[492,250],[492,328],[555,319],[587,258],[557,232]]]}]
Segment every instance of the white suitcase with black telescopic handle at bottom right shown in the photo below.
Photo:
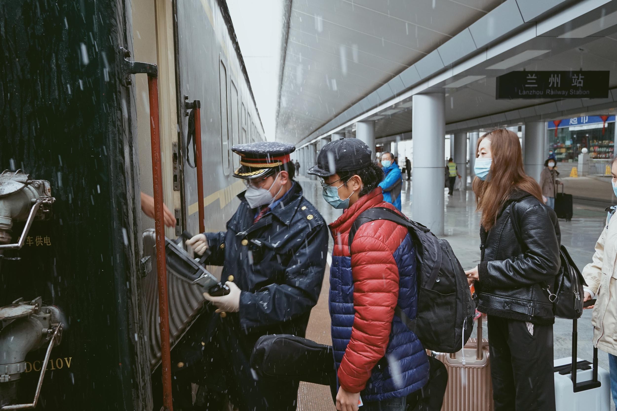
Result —
[{"label": "white suitcase with black telescopic handle at bottom right", "polygon": [[[558,411],[610,411],[610,376],[598,367],[598,349],[593,362],[581,360],[577,351],[576,320],[572,326],[572,356],[555,360],[555,409]],[[572,359],[576,359],[573,364]]]}]

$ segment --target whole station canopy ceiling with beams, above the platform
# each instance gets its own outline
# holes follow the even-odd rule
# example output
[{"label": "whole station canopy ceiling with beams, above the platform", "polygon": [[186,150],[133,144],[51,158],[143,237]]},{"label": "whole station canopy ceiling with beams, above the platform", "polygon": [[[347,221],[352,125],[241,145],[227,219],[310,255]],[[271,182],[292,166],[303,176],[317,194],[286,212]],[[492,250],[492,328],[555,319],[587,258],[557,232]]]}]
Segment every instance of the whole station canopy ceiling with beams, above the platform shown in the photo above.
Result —
[{"label": "whole station canopy ceiling with beams, above the platform", "polygon": [[305,143],[370,109],[377,138],[411,131],[410,96],[379,104],[423,82],[445,92],[450,129],[585,112],[598,101],[496,100],[495,77],[610,70],[617,88],[616,32],[617,0],[293,0],[276,139]]}]

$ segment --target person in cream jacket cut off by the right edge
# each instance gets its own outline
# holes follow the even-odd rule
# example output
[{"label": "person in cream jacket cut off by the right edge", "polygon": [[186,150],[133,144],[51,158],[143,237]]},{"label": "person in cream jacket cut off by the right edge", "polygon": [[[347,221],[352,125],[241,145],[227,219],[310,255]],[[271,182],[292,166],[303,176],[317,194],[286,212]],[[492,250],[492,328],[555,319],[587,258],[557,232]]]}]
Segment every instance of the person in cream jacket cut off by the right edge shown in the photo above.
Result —
[{"label": "person in cream jacket cut off by the right edge", "polygon": [[[617,196],[617,157],[611,162],[613,192]],[[582,270],[587,283],[583,301],[595,299],[595,304],[585,307],[594,309],[591,323],[594,326],[594,346],[608,353],[611,393],[617,404],[617,206],[608,207],[607,222],[595,244],[593,262]],[[594,308],[595,307],[595,308]]]}]

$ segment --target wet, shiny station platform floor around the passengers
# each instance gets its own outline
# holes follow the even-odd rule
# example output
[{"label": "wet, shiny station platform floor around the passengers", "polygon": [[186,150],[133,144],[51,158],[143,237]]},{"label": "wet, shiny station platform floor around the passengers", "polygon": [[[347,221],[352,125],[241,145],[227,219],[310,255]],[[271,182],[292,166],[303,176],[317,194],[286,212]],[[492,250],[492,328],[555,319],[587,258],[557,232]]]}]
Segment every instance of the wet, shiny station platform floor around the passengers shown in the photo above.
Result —
[{"label": "wet, shiny station platform floor around the passengers", "polygon": [[[570,181],[576,180],[576,181]],[[321,196],[321,186],[318,180],[310,180],[304,176],[299,176],[304,189],[304,195],[314,204],[325,218],[326,222],[331,223],[341,214],[341,210],[333,209],[325,202]],[[594,178],[579,177],[567,178],[565,183],[566,193],[585,194],[585,193],[604,193],[612,195],[610,180],[598,181]],[[584,191],[587,190],[587,191]],[[402,188],[402,211],[408,217],[412,217],[412,181],[404,181]],[[574,216],[571,221],[560,220],[561,244],[568,248],[575,264],[582,268],[591,261],[594,253],[594,245],[602,232],[605,222],[605,207],[615,204],[611,196],[604,199],[595,198],[589,200],[586,195],[579,195],[574,199]],[[453,196],[447,195],[444,189],[445,204],[445,235],[457,255],[458,260],[465,270],[478,265],[480,260],[480,239],[479,239],[479,214],[476,212],[475,197],[473,191],[455,191]],[[421,222],[421,221],[420,221]],[[332,251],[332,240],[330,239],[329,252]],[[326,276],[321,289],[321,294],[317,306],[312,310],[307,338],[322,344],[331,344],[330,321],[328,313],[328,289],[329,289],[329,269],[326,268]],[[485,322],[485,325],[486,322]],[[490,325],[488,325],[490,326]],[[484,328],[486,336],[486,328]],[[591,311],[585,310],[582,318],[578,320],[578,357],[581,359],[592,360],[593,347],[591,344],[593,328],[591,326]],[[572,342],[572,322],[557,319],[553,328],[554,338],[554,357],[560,359],[571,355]],[[598,351],[598,362],[600,367],[608,370],[608,355]],[[333,411],[334,405],[331,401],[329,388],[316,384],[302,383],[298,393],[298,410],[301,411]],[[611,401],[611,411],[615,410],[615,404]]]}]

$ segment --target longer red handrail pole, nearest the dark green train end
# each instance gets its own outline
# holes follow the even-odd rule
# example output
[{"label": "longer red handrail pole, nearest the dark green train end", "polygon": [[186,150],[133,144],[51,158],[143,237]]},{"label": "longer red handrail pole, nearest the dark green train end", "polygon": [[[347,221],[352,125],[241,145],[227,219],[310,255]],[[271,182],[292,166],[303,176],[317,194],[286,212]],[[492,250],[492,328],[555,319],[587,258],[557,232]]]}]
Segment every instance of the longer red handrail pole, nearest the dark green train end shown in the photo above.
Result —
[{"label": "longer red handrail pole, nearest the dark green train end", "polygon": [[159,281],[160,357],[163,375],[163,407],[173,411],[172,362],[169,348],[169,309],[167,302],[167,263],[163,231],[163,177],[160,163],[159,82],[148,74],[150,97],[150,139],[152,146],[152,185],[154,186],[154,231],[156,235],[156,268]]}]

